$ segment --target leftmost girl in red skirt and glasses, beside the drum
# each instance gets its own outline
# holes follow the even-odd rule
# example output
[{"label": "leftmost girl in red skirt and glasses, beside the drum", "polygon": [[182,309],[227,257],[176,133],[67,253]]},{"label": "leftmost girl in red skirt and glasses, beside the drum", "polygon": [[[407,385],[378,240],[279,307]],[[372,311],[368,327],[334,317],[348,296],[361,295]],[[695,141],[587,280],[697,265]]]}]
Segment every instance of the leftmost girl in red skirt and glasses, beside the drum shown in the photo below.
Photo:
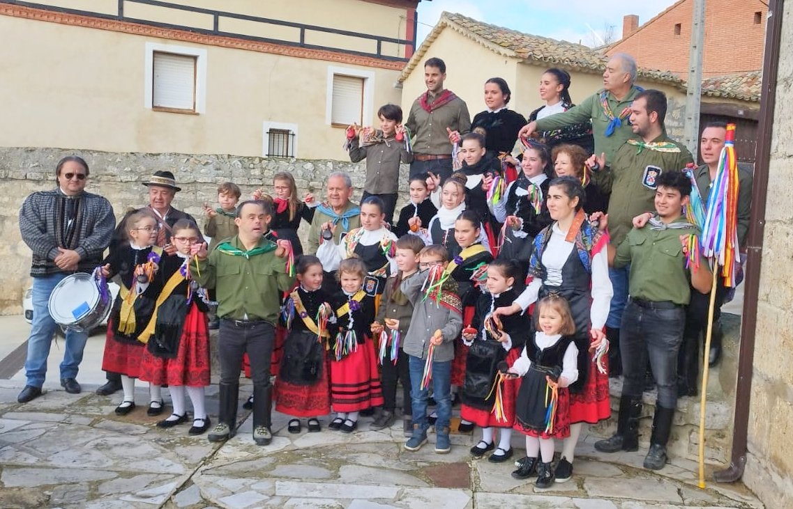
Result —
[{"label": "leftmost girl in red skirt and glasses, beside the drum", "polygon": [[[110,320],[107,324],[105,355],[102,370],[121,374],[124,399],[116,408],[116,414],[125,416],[135,409],[135,378],[140,375],[144,343],[139,340],[140,332],[146,328],[155,302],[162,288],[162,280],[156,277],[163,250],[156,247],[157,221],[144,212],[130,215],[125,223],[128,244],[105,258],[102,275],[105,278],[118,275],[121,291],[118,292]],[[163,412],[163,397],[158,384],[149,384],[151,403],[147,414],[159,416]]]}]

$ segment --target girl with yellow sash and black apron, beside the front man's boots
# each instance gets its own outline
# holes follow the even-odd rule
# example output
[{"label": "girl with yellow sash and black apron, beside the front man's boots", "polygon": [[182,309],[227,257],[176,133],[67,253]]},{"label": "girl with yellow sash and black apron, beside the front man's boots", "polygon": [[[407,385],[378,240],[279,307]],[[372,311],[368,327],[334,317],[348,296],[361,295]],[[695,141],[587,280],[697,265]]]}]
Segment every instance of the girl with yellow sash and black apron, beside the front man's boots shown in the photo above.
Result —
[{"label": "girl with yellow sash and black apron, beside the front man's boots", "polygon": [[[289,335],[284,342],[281,370],[275,380],[278,412],[293,417],[308,417],[308,432],[320,431],[318,416],[331,412],[331,393],[328,376],[328,357],[325,346],[330,340],[327,324],[318,318],[320,306],[332,308],[322,291],[322,264],[316,256],[303,255],[297,259],[299,286],[289,294],[284,304],[284,316]],[[289,433],[300,433],[300,419],[289,420]]]}]

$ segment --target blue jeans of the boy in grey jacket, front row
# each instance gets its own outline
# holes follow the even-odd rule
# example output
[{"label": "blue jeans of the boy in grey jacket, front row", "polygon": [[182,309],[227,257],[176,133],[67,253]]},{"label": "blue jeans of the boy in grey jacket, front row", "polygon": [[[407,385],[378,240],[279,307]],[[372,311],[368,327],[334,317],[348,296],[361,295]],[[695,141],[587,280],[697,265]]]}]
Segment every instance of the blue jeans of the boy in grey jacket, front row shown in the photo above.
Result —
[{"label": "blue jeans of the boy in grey jacket, front row", "polygon": [[[424,359],[408,355],[410,369],[410,399],[413,407],[413,424],[419,425],[420,431],[427,431],[430,425],[427,422],[427,396],[429,388],[421,389],[421,378],[424,374]],[[435,430],[442,432],[449,427],[451,419],[451,361],[432,363],[432,390],[438,406],[438,420],[435,421]]]}]

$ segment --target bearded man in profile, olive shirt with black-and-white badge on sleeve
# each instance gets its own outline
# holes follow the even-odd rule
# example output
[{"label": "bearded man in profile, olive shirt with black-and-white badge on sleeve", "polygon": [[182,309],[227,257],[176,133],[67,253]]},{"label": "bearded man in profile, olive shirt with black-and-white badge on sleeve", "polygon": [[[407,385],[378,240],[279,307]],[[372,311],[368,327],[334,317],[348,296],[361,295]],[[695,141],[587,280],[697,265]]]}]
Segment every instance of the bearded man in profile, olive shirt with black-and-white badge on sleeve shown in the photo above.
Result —
[{"label": "bearded man in profile, olive shirt with black-and-white badge on sleeve", "polygon": [[[653,211],[656,181],[666,172],[680,172],[692,162],[691,153],[666,135],[666,96],[658,90],[639,93],[630,105],[630,124],[634,136],[619,147],[611,164],[611,198],[608,203],[611,244],[619,245],[631,228],[633,218]],[[610,268],[608,276],[614,295],[606,321],[606,336],[611,342],[611,374],[620,373],[619,324],[628,298],[630,266]]]}]

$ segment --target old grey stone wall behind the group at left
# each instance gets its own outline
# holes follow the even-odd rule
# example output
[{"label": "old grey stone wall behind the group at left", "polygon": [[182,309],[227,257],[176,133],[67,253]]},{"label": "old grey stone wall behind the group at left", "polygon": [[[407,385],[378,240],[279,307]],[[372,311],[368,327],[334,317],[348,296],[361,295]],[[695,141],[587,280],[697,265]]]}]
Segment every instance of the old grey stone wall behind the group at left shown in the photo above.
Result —
[{"label": "old grey stone wall behind the group at left", "polygon": [[[242,158],[229,155],[117,154],[91,150],[40,148],[0,148],[0,314],[21,313],[22,296],[30,284],[30,249],[19,234],[19,208],[25,197],[55,186],[55,167],[66,155],[85,158],[90,167],[87,190],[105,196],[120,218],[128,207],[147,203],[146,188],[140,183],[157,170],[174,173],[182,188],[174,207],[193,215],[202,226],[204,203],[216,203],[216,186],[231,180],[250,196],[256,188],[272,190],[273,175],[292,173],[300,196],[306,192],[322,195],[328,175],[335,171],[350,173],[360,199],[366,163],[349,161],[305,161],[296,159]],[[408,166],[400,172],[400,204],[408,196]],[[321,196],[320,196],[321,199]],[[305,236],[308,225],[301,226]],[[305,239],[304,239],[305,240]]]}]

